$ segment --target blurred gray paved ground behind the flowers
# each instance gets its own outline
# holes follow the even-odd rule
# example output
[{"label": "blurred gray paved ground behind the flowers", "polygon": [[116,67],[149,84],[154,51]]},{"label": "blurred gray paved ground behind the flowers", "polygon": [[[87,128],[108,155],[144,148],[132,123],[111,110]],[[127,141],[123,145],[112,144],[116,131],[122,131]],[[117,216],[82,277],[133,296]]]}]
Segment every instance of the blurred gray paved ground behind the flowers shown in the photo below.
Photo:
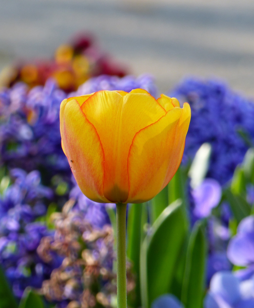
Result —
[{"label": "blurred gray paved ground behind the flowers", "polygon": [[80,30],[162,92],[186,75],[217,76],[254,97],[254,1],[0,0],[0,67],[49,57]]}]

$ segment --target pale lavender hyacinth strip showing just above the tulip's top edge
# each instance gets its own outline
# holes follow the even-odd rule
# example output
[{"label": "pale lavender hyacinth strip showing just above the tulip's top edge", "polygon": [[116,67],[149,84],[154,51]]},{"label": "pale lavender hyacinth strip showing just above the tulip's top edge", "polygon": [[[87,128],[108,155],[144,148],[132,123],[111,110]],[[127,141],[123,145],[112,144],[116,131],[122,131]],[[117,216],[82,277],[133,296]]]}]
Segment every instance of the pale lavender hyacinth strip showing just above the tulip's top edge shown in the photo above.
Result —
[{"label": "pale lavender hyacinth strip showing just above the tulip's top edge", "polygon": [[131,75],[123,78],[100,75],[86,81],[76,92],[69,93],[68,97],[90,94],[100,90],[121,90],[130,92],[138,88],[148,91],[154,97],[157,96],[157,87],[151,75],[141,75],[138,78]]}]

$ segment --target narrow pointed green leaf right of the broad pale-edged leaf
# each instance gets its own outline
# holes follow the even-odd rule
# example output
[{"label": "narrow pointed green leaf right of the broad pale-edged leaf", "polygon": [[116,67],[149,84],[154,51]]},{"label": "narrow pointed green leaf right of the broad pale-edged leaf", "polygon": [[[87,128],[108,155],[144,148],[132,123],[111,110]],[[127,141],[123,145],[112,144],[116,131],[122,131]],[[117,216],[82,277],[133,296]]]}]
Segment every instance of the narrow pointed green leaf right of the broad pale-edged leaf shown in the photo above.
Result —
[{"label": "narrow pointed green leaf right of the broad pale-edged leaf", "polygon": [[197,221],[187,248],[181,302],[185,308],[202,308],[205,294],[207,242],[204,225]]}]

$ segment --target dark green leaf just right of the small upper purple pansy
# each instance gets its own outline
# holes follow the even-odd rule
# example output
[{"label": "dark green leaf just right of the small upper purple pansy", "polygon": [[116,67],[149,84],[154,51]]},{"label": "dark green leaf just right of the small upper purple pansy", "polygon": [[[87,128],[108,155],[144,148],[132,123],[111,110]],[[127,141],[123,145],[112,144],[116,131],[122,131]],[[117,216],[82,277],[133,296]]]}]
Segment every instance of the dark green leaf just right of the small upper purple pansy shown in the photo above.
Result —
[{"label": "dark green leaf just right of the small upper purple pansy", "polygon": [[230,189],[226,188],[223,191],[223,200],[228,201],[238,224],[244,217],[250,215],[251,206],[248,202],[242,196],[234,195]]}]

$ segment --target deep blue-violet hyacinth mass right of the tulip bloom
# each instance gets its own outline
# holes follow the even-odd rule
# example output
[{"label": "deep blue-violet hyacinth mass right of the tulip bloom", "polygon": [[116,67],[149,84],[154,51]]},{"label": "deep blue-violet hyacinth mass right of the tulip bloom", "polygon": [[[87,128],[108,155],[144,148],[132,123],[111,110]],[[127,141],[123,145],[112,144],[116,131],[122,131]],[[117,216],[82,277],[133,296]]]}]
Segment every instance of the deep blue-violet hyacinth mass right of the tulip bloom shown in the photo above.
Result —
[{"label": "deep blue-violet hyacinth mass right of the tulip bloom", "polygon": [[180,104],[187,101],[191,107],[183,162],[209,142],[212,154],[207,177],[225,184],[254,144],[254,103],[225,83],[197,78],[183,80],[169,96],[176,97]]}]

